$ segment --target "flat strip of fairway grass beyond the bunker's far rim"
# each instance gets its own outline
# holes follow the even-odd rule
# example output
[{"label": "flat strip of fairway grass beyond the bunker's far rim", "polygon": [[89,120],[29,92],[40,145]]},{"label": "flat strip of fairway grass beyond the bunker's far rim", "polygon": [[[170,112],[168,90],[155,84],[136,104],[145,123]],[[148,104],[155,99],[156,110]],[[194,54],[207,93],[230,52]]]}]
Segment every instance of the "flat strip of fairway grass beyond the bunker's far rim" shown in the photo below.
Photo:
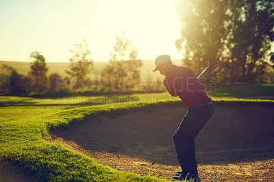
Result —
[{"label": "flat strip of fairway grass beyond the bunker's far rim", "polygon": [[[206,88],[207,94],[213,100],[219,99],[246,99],[252,97],[273,96],[274,83],[250,83],[238,84],[236,86],[216,85],[216,91],[210,86]],[[126,94],[126,95],[110,95],[110,96],[71,96],[52,99],[37,99],[34,97],[21,96],[0,96],[0,106],[41,106],[41,105],[99,105],[108,103],[121,103],[131,101],[150,101],[157,102],[162,99],[178,100],[178,97],[172,97],[168,92],[154,94]]]}]

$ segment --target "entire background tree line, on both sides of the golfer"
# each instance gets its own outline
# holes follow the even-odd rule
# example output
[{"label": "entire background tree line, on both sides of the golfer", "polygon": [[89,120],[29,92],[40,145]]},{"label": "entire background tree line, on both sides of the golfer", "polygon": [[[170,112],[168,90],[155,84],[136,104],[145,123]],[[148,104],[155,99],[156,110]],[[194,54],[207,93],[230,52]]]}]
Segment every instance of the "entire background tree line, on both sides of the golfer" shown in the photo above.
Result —
[{"label": "entire background tree line, on both sides of the golfer", "polygon": [[[267,0],[176,0],[176,12],[182,23],[181,37],[175,41],[182,53],[184,66],[198,75],[210,62],[204,75],[218,82],[274,81],[274,1]],[[272,46],[271,46],[272,44]],[[140,83],[142,60],[127,39],[125,32],[116,37],[110,62],[97,79],[87,75],[93,61],[85,40],[74,44],[66,73],[47,77],[47,64],[40,52],[30,54],[33,61],[27,76],[3,65],[0,74],[1,90],[11,94],[44,92],[45,90],[100,86],[101,90],[132,90]],[[159,53],[161,54],[161,53]],[[151,78],[150,78],[151,79]],[[162,81],[156,81],[156,89]],[[153,90],[147,85],[147,90]]]}]

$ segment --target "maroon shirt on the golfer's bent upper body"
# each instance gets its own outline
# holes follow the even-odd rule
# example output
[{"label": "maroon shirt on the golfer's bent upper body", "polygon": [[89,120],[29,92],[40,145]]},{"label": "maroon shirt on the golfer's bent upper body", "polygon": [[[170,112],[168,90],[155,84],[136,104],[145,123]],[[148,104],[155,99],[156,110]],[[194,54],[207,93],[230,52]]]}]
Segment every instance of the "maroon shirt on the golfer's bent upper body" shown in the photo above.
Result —
[{"label": "maroon shirt on the golfer's bent upper body", "polygon": [[188,107],[197,103],[209,103],[212,100],[203,90],[194,72],[184,66],[171,66],[164,78],[164,86],[172,96],[179,96]]}]

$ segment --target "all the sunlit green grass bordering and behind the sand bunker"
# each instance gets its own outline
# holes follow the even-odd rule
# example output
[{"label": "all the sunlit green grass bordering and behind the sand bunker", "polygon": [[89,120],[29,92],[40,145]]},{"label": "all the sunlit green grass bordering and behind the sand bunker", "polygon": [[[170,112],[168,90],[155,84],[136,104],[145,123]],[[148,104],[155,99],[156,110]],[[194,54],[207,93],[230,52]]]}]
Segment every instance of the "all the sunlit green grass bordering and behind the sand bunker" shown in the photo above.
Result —
[{"label": "all the sunlit green grass bordering and behind the sand bunker", "polygon": [[[273,95],[272,91],[268,92],[273,89],[273,84],[244,87],[223,86],[218,92],[208,94],[211,94],[217,105],[274,105],[272,100],[240,99],[245,95]],[[251,88],[251,93],[241,93],[242,89],[248,92]],[[132,110],[147,110],[156,105],[182,105],[182,101],[169,96],[166,92],[114,97],[116,99],[111,99],[110,96],[83,96],[63,98],[58,102],[58,99],[0,96],[0,161],[20,166],[40,181],[164,181],[113,170],[82,153],[42,140],[49,136],[50,129],[77,125],[88,118],[114,113],[125,114]]]}]

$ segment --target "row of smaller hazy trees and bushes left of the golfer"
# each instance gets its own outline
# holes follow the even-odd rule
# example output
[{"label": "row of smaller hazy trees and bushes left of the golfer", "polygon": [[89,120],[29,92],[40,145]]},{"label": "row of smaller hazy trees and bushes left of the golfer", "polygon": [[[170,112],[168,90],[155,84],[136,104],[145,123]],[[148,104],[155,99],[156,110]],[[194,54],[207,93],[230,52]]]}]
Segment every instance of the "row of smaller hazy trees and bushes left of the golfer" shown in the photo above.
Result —
[{"label": "row of smaller hazy trees and bushes left of the golfer", "polygon": [[19,95],[30,92],[82,90],[86,87],[99,92],[129,91],[134,90],[139,83],[142,60],[137,58],[138,51],[134,49],[131,40],[127,39],[125,31],[116,37],[114,51],[110,53],[110,62],[94,80],[88,78],[93,68],[93,61],[88,57],[90,54],[86,40],[74,44],[70,64],[66,69],[69,77],[62,77],[58,73],[47,77],[49,68],[46,59],[40,52],[34,51],[29,55],[32,63],[27,75],[18,74],[11,66],[1,66],[1,92]]}]

